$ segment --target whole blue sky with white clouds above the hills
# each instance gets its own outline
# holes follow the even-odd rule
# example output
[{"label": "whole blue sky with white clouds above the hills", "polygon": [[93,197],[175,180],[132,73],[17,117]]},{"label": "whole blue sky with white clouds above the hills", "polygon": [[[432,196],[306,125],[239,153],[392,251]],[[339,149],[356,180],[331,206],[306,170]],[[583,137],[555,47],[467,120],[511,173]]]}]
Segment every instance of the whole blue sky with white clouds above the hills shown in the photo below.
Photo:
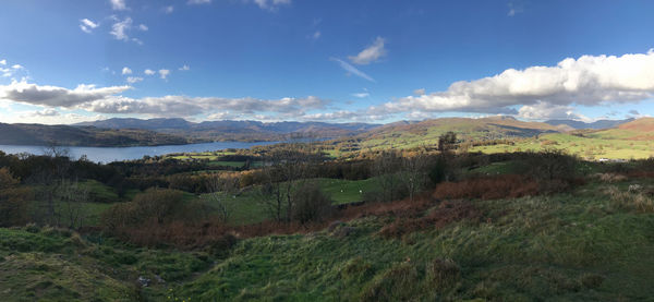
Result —
[{"label": "whole blue sky with white clouds above the hills", "polygon": [[0,122],[654,114],[654,1],[2,0]]}]

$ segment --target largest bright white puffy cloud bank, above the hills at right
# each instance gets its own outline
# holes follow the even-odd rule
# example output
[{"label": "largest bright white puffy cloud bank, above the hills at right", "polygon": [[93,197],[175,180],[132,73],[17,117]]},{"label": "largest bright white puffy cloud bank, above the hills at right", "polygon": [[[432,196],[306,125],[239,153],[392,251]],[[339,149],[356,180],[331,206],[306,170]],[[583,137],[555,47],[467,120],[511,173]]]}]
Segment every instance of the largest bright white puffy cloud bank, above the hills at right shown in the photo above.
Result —
[{"label": "largest bright white puffy cloud bank, above the hills at right", "polygon": [[[621,57],[582,56],[555,67],[509,69],[489,77],[456,82],[447,90],[403,97],[379,109],[519,113],[511,107],[550,106],[561,112],[560,106],[635,102],[653,97],[652,70],[654,50]],[[523,112],[528,114],[529,108]]]}]

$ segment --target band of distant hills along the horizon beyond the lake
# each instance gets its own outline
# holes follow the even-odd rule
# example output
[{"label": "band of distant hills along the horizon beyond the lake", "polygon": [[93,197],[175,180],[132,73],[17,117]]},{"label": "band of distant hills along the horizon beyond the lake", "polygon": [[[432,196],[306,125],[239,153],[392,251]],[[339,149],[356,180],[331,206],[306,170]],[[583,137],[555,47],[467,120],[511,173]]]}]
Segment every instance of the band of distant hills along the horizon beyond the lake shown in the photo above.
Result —
[{"label": "band of distant hills along the horizon beyond the lake", "polygon": [[525,122],[511,117],[443,118],[399,121],[384,125],[326,122],[265,123],[258,121],[195,123],[184,119],[108,119],[74,125],[0,123],[0,144],[154,146],[216,141],[274,142],[312,137],[316,140],[337,138],[336,142],[353,142],[353,138],[361,143],[356,143],[360,147],[374,148],[383,145],[424,145],[427,142],[437,141],[438,136],[447,131],[456,132],[465,142],[531,137],[542,133],[567,132],[576,129],[607,129],[609,131],[607,133],[610,134],[625,128],[622,131],[633,132],[630,132],[630,135],[634,135],[634,137],[650,137],[646,136],[650,134],[643,136],[639,132],[645,128],[651,129],[652,124],[649,119],[601,120],[584,123],[572,120]]}]

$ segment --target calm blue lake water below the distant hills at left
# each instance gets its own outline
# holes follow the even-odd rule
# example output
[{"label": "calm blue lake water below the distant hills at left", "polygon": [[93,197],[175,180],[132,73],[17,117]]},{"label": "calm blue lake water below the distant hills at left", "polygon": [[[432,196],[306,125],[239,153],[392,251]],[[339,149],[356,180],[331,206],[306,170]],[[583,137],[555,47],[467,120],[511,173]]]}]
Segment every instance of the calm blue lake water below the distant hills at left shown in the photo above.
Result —
[{"label": "calm blue lake water below the distant hills at left", "polygon": [[[141,159],[143,156],[156,156],[171,153],[184,152],[214,152],[227,148],[245,149],[253,146],[271,145],[278,142],[216,142],[187,145],[166,145],[166,146],[143,146],[143,147],[64,147],[70,152],[74,159],[86,155],[88,160],[96,162],[111,162],[117,160]],[[43,146],[12,146],[0,145],[0,150],[7,154],[29,153],[41,155],[45,152]]]}]

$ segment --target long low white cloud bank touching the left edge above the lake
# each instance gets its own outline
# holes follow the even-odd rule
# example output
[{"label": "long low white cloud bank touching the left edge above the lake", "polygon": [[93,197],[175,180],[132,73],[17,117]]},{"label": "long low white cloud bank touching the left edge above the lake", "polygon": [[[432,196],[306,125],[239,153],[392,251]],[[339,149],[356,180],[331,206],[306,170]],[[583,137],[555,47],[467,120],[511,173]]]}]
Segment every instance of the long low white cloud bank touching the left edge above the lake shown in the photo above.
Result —
[{"label": "long low white cloud bank touching the left edge above the lake", "polygon": [[13,81],[0,85],[0,99],[49,107],[72,108],[81,104],[105,99],[130,89],[130,86],[97,88],[95,85],[78,85],[74,89],[57,86],[39,86],[27,82]]}]

